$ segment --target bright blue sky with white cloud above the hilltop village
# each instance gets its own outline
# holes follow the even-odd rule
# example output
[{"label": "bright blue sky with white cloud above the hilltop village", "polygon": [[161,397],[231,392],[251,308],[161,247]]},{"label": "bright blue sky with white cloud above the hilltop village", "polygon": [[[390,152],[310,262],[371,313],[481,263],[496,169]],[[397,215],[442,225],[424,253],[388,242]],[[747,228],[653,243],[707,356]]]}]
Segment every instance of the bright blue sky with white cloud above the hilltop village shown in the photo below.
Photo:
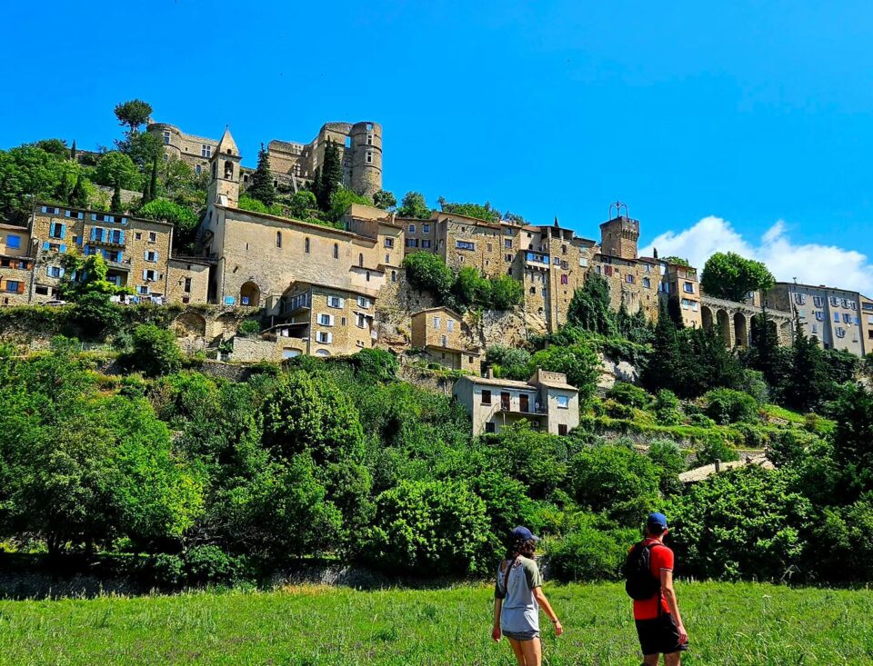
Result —
[{"label": "bright blue sky with white cloud above the hilltop village", "polygon": [[873,292],[873,5],[17,3],[0,147],[111,144],[132,97],[246,164],[327,120],[384,126],[386,189],[597,237],[718,249]]}]

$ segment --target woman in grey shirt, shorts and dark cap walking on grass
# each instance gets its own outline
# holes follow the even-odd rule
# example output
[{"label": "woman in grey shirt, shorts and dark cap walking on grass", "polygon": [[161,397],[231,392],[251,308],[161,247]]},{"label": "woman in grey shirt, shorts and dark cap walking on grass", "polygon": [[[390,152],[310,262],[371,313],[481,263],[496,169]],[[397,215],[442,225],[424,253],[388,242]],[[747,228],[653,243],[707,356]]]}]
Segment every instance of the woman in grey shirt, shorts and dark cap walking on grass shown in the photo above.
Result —
[{"label": "woman in grey shirt, shorts and dark cap walking on grass", "polygon": [[539,643],[539,608],[555,625],[555,635],[564,633],[555,611],[543,594],[543,577],[539,573],[534,551],[539,537],[527,527],[512,531],[512,554],[500,562],[494,586],[494,629],[491,638],[507,637],[519,666],[541,666],[542,647]]}]

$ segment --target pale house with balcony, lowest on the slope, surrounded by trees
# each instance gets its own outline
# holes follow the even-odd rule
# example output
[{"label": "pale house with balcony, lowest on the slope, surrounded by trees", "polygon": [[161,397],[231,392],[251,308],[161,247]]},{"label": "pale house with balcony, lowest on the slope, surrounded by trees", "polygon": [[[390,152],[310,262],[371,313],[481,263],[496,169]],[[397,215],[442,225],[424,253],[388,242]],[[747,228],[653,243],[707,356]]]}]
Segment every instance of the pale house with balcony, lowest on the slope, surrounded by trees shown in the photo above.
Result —
[{"label": "pale house with balcony, lowest on the slope, surrounded by trees", "polygon": [[527,382],[467,375],[457,380],[452,395],[472,417],[474,436],[520,421],[558,435],[579,424],[579,392],[562,373],[537,368]]}]

